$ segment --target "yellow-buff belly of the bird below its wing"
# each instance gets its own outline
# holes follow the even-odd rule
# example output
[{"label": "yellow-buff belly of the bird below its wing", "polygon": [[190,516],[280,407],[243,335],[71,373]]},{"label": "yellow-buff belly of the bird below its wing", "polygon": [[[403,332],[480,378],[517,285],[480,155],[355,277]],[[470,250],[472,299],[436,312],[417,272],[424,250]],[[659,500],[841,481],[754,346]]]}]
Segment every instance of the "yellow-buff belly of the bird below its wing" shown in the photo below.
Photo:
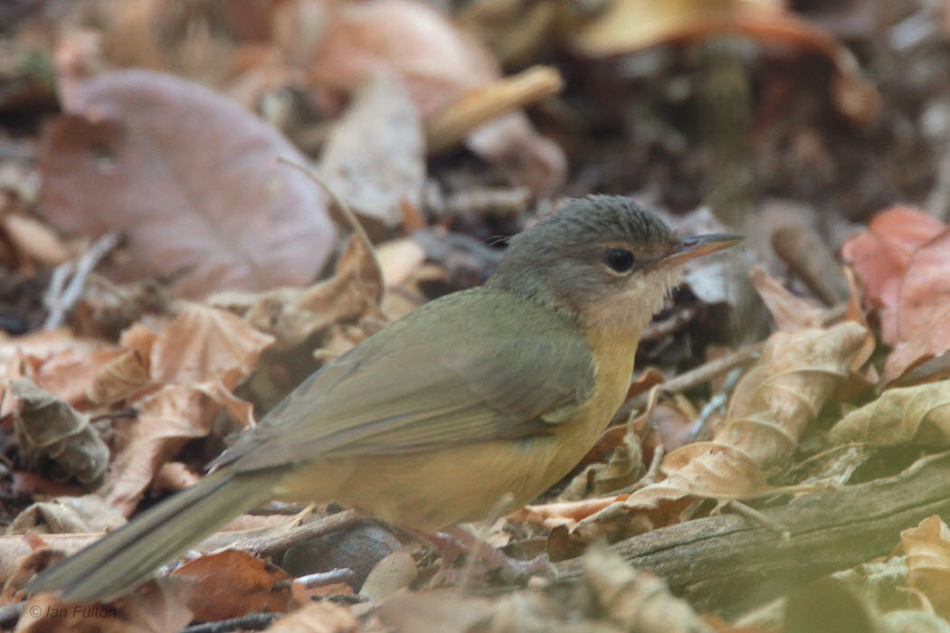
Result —
[{"label": "yellow-buff belly of the bird below its wing", "polygon": [[293,469],[275,495],[302,502],[335,500],[420,529],[512,512],[567,475],[597,441],[630,383],[626,367],[611,373],[598,382],[597,396],[549,436],[404,455],[324,456]]}]

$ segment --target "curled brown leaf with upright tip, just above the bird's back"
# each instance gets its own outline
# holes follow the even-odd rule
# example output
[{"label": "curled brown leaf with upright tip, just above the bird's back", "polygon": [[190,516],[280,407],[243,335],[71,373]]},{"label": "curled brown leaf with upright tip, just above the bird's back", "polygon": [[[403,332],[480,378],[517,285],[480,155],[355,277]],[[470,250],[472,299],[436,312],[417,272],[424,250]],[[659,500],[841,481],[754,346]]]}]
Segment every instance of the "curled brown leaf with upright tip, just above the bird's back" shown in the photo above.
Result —
[{"label": "curled brown leaf with upright tip, just above the bird's back", "polygon": [[339,322],[379,315],[383,275],[359,235],[352,235],[333,277],[306,289],[282,288],[259,294],[222,292],[210,299],[288,349]]}]

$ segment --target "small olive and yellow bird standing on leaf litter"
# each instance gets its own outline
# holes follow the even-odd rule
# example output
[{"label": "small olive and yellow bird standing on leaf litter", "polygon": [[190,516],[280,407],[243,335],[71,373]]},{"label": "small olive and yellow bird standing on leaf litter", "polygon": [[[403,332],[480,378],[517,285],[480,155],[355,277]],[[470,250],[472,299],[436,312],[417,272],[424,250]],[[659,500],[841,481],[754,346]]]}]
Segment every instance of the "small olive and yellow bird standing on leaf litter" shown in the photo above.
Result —
[{"label": "small olive and yellow bird standing on leaf litter", "polygon": [[109,600],[270,499],[335,500],[439,529],[514,510],[573,469],[617,412],[640,333],[683,264],[742,237],[677,238],[634,200],[565,201],[498,270],[316,371],[195,486],[40,573],[28,593]]}]

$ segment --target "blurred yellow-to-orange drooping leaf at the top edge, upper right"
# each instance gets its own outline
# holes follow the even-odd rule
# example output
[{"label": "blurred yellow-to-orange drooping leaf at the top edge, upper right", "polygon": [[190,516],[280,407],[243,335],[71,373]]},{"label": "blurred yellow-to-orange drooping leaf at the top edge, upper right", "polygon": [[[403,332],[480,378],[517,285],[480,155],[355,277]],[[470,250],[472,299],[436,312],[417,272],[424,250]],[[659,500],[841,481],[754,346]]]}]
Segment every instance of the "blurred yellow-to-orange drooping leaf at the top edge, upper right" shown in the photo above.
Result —
[{"label": "blurred yellow-to-orange drooping leaf at the top edge, upper right", "polygon": [[832,35],[812,27],[777,0],[618,0],[573,30],[573,45],[596,57],[729,33],[765,46],[813,50],[835,66],[837,74],[829,92],[839,112],[864,125],[881,111],[881,95],[864,79],[854,55]]}]

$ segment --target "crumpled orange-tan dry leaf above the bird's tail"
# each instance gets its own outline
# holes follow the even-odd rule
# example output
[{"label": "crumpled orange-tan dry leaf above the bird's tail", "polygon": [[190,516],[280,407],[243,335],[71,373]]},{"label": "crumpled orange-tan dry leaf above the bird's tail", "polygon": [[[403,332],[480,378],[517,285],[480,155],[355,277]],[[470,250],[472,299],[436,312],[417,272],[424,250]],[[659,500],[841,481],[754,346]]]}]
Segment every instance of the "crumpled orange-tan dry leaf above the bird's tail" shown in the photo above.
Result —
[{"label": "crumpled orange-tan dry leaf above the bird's tail", "polygon": [[92,387],[92,393],[108,400],[134,388],[143,376],[154,385],[148,393],[138,390],[132,401],[138,417],[117,423],[116,455],[97,490],[125,514],[185,442],[211,433],[221,409],[238,423],[253,424],[250,403],[232,390],[274,341],[230,312],[187,302],[180,303],[174,319],[158,326],[157,333],[142,323],[123,332],[123,360],[101,373]]}]

